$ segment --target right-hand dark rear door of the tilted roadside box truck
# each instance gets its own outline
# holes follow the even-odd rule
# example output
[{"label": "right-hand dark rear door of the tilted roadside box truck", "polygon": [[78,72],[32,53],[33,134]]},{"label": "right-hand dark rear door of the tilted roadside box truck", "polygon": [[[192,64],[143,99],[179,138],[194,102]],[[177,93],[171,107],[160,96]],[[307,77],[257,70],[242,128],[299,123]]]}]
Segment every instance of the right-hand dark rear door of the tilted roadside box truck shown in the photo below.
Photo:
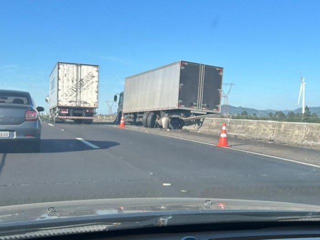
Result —
[{"label": "right-hand dark rear door of the tilted roadside box truck", "polygon": [[203,68],[201,109],[218,111],[223,69],[208,65],[204,65]]}]

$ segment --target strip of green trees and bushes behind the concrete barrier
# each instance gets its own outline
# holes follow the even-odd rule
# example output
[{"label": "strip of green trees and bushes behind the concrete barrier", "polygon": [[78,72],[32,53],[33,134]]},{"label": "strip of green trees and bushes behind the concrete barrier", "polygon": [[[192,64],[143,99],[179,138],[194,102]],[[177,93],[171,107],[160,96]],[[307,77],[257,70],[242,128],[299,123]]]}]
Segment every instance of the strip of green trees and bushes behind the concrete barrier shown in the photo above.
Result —
[{"label": "strip of green trees and bushes behind the concrete barrier", "polygon": [[291,121],[291,122],[313,122],[320,123],[320,117],[314,112],[310,112],[310,108],[305,106],[304,114],[289,111],[286,115],[282,111],[274,113],[269,112],[266,116],[257,116],[256,113],[248,115],[246,111],[242,111],[239,115],[232,116],[233,119],[252,119],[252,120],[274,120],[274,121]]}]

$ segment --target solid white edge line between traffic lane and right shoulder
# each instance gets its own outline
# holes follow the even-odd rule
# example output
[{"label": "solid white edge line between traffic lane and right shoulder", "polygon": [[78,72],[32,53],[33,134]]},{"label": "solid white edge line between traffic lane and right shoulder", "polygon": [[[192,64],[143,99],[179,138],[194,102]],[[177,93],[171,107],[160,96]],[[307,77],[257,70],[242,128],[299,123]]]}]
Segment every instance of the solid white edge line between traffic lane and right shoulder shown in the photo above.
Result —
[{"label": "solid white edge line between traffic lane and right shoulder", "polygon": [[[132,129],[132,128],[125,128],[125,129],[141,132],[140,130]],[[216,146],[215,144],[204,142],[204,141],[197,141],[197,140],[187,139],[187,138],[183,138],[183,137],[179,137],[179,136],[169,136],[169,135],[159,134],[159,133],[154,133],[154,132],[149,132],[149,131],[146,131],[146,132],[150,133],[150,134],[154,134],[154,135],[167,136],[167,137],[171,137],[171,138],[175,138],[175,139],[180,139],[180,140],[185,140],[185,141],[192,141],[192,142],[201,143],[201,144],[205,144],[205,145],[209,145],[209,146]],[[313,167],[320,168],[320,165],[307,163],[307,162],[302,162],[302,161],[297,161],[297,160],[292,160],[292,159],[288,159],[288,158],[284,158],[284,157],[272,156],[272,155],[267,155],[267,154],[263,154],[263,153],[258,153],[258,152],[254,152],[254,151],[247,151],[247,150],[242,150],[242,149],[237,149],[237,148],[232,148],[232,147],[222,147],[222,148],[226,148],[226,149],[230,149],[230,150],[234,150],[234,151],[247,152],[247,153],[251,153],[251,154],[255,154],[255,155],[266,156],[266,157],[276,158],[276,159],[280,159],[280,160],[284,160],[284,161],[290,161],[290,162],[294,162],[294,163],[298,163],[298,164],[302,164],[302,165],[307,165],[307,166],[313,166]]]}]

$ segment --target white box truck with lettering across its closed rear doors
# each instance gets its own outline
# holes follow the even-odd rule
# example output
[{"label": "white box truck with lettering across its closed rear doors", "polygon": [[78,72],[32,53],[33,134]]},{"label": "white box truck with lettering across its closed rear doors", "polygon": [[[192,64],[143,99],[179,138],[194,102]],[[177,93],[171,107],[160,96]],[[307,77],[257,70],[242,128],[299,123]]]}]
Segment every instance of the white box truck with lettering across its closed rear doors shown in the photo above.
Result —
[{"label": "white box truck with lettering across its closed rear doors", "polygon": [[57,62],[49,75],[50,120],[92,123],[98,107],[99,66]]}]

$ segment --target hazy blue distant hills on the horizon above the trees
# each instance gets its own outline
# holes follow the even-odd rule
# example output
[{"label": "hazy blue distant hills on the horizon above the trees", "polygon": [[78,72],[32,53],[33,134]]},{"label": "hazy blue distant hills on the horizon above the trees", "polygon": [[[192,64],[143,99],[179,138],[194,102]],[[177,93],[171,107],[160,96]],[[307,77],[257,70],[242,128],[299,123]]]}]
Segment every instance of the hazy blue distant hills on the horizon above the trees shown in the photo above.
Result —
[{"label": "hazy blue distant hills on the horizon above the trees", "polygon": [[[231,106],[231,105],[221,105],[221,112],[223,109],[228,107],[228,111],[232,114],[241,114],[242,111],[246,111],[249,115],[255,113],[257,116],[266,116],[269,112],[276,112],[278,110],[266,109],[266,110],[258,110],[249,107],[242,107],[242,106]],[[309,107],[311,113],[315,112],[318,116],[320,116],[320,106],[311,106]],[[284,114],[287,114],[290,110],[281,110]],[[302,111],[301,107],[292,110],[294,113],[299,113]]]}]

